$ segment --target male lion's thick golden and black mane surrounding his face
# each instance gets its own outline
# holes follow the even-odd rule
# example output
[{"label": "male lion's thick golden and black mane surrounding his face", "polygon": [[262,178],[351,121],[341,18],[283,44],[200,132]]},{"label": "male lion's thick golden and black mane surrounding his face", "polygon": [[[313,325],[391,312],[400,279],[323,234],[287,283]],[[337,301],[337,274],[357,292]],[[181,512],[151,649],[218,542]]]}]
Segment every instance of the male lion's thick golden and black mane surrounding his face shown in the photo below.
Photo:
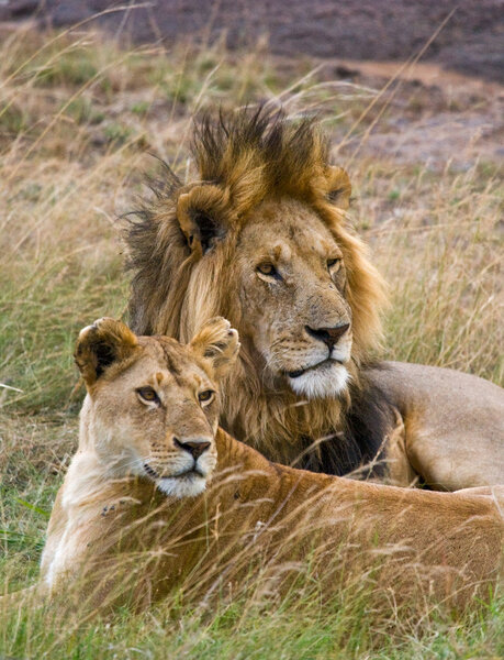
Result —
[{"label": "male lion's thick golden and black mane surrounding his face", "polygon": [[[287,383],[282,391],[266,393],[261,370],[244,341],[238,367],[224,388],[222,424],[278,461],[292,457],[293,444],[302,452],[314,440],[336,436],[328,453],[328,443],[322,443],[307,462],[298,464],[314,470],[341,474],[372,460],[382,442],[384,413],[380,396],[366,387],[362,365],[381,339],[384,284],[338,206],[341,197],[348,198],[350,185],[345,174],[334,186],[327,139],[313,119],[288,121],[280,112],[245,109],[221,114],[217,122],[205,116],[195,124],[191,151],[199,180],[183,184],[164,165],[164,175],[149,180],[154,199],[143,202],[126,230],[134,272],[133,329],[186,342],[205,320],[221,315],[242,334],[244,309],[233,277],[239,229],[265,198],[301,200],[326,223],[344,254],[352,311],[350,389],[340,400],[303,405]],[[200,240],[205,232],[221,232],[204,255],[191,250],[177,216],[181,195],[195,187],[191,212],[203,209],[205,215]]]}]

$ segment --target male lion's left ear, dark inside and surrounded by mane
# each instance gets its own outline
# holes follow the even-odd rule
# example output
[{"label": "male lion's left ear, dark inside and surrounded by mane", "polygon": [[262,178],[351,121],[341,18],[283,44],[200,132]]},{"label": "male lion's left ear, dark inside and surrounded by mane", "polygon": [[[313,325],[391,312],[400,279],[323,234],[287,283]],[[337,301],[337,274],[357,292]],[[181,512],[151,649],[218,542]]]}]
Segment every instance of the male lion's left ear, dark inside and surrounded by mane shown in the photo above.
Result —
[{"label": "male lion's left ear, dark inside and surrounded by mane", "polygon": [[194,186],[177,201],[177,219],[189,248],[200,255],[226,234],[228,194],[219,186]]}]

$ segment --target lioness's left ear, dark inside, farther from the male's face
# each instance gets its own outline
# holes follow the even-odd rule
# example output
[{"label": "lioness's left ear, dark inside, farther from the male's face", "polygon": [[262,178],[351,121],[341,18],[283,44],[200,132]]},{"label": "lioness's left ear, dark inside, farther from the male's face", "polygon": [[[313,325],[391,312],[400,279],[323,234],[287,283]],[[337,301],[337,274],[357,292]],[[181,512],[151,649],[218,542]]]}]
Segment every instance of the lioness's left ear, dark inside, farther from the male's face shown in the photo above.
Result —
[{"label": "lioness's left ear, dark inside, farther from the male's face", "polygon": [[128,358],[136,345],[136,336],[115,319],[104,317],[83,328],[77,339],[75,360],[87,387],[112,363]]}]

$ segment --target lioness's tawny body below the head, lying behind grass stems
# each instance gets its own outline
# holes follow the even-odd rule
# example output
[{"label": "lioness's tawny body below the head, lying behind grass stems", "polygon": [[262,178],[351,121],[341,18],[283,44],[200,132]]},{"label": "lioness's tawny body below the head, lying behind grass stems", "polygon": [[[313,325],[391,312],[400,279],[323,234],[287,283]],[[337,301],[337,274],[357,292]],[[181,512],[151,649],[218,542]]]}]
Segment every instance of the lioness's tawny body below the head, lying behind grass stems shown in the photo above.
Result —
[{"label": "lioness's tawny body below the head, lying behind grass stems", "polygon": [[[395,598],[423,587],[438,600],[467,605],[488,596],[497,578],[503,521],[492,496],[405,491],[290,469],[222,429],[215,441],[216,476],[195,499],[167,497],[148,479],[136,477],[104,480],[92,502],[63,507],[64,485],[43,578],[57,590],[68,586],[70,571],[85,579],[82,598],[97,605],[132,598],[146,606],[180,586],[191,571],[204,592],[219,576],[215,562],[224,570],[244,547],[250,551],[249,561],[242,558],[247,573],[258,546],[276,554],[280,568],[306,559],[314,544],[324,548],[324,568],[338,575],[337,584],[345,572],[376,564],[393,575]],[[75,468],[86,480],[79,463]],[[232,575],[236,581],[240,572]],[[331,591],[325,585],[326,594]]]}]

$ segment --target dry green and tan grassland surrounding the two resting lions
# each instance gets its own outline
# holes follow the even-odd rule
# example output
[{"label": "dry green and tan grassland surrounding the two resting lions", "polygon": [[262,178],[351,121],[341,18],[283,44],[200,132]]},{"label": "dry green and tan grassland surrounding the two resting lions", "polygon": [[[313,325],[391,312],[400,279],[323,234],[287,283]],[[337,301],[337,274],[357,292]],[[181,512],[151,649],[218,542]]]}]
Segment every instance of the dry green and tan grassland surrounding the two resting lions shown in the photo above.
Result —
[{"label": "dry green and tan grassland surrounding the two resting lions", "polygon": [[[190,169],[191,117],[270,100],[318,112],[354,184],[351,217],[391,285],[383,358],[503,384],[502,88],[435,66],[271,56],[260,44],[121,48],[99,35],[0,34],[0,572],[32,584],[47,517],[77,444],[78,330],[123,317],[117,216],[142,173]],[[392,68],[391,68],[392,67]],[[433,512],[435,515],[435,512]],[[503,600],[464,617],[373,605],[362,581],[324,603],[313,576],[284,601],[260,579],[202,607],[180,593],[107,623],[24,607],[2,615],[14,658],[499,658]],[[500,635],[501,634],[501,635]]]}]

